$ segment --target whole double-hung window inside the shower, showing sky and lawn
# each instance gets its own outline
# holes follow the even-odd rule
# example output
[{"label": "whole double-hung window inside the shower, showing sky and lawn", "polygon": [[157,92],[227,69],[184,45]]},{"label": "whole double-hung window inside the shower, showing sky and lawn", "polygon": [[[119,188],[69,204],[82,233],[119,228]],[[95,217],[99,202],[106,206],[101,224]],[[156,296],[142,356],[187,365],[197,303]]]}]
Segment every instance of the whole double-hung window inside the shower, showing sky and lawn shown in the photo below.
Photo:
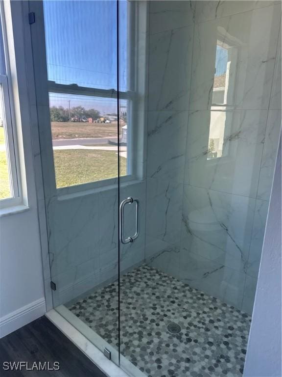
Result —
[{"label": "whole double-hung window inside the shower, showing sky and lawn", "polygon": [[132,173],[129,143],[134,92],[129,80],[132,72],[129,74],[127,31],[130,5],[120,1],[119,108],[116,6],[111,0],[44,1],[57,188],[116,178],[118,137],[121,174]]}]

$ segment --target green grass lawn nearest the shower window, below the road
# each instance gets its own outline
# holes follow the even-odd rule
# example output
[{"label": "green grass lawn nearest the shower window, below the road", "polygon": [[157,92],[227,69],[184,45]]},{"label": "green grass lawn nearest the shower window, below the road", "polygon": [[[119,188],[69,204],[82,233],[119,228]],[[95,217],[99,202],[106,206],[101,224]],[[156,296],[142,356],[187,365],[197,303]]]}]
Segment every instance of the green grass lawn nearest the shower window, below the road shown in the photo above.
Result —
[{"label": "green grass lawn nearest the shower window, below the road", "polygon": [[[118,176],[118,155],[115,151],[71,149],[55,150],[57,188]],[[120,157],[121,175],[126,174],[126,159]]]}]

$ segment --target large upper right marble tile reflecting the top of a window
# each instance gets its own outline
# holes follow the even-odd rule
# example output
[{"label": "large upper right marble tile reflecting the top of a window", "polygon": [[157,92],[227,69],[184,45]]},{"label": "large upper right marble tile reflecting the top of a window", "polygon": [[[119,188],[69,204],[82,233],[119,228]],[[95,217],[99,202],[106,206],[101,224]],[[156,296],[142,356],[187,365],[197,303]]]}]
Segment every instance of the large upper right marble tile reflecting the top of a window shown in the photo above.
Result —
[{"label": "large upper right marble tile reflecting the top of a window", "polygon": [[190,110],[268,108],[280,17],[275,5],[195,25]]}]

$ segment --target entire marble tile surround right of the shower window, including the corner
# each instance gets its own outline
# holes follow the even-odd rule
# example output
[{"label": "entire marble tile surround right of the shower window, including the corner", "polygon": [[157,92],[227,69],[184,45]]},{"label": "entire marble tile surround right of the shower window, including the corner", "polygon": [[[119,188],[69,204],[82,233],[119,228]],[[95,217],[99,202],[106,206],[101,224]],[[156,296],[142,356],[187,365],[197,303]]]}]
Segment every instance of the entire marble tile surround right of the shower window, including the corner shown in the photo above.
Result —
[{"label": "entire marble tile surround right of the shower window, including the corner", "polygon": [[278,1],[150,2],[145,258],[250,314],[281,128],[280,23]]}]

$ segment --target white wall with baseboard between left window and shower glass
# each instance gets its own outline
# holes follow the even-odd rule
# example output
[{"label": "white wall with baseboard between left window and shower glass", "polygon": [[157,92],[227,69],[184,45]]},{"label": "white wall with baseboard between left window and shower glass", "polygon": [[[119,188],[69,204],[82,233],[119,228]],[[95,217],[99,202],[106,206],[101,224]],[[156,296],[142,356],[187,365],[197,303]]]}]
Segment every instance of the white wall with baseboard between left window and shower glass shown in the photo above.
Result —
[{"label": "white wall with baseboard between left window and shower glass", "polygon": [[[9,13],[8,5],[5,4],[5,13]],[[24,51],[25,24],[22,4],[18,1],[12,2],[11,10],[12,15],[15,16],[13,30],[9,23],[7,28],[10,27],[9,38],[13,34],[15,41],[14,61],[10,56],[11,66],[16,61],[17,69],[17,78],[14,77],[13,85],[15,80],[18,81],[18,94],[16,86],[13,86],[16,105],[14,126],[17,126],[21,175],[24,178],[22,179],[24,203],[27,206],[22,212],[6,214],[0,218],[1,337],[42,316],[46,311],[31,137],[30,96],[24,59],[26,51]],[[10,16],[7,14],[7,20],[10,20]],[[24,21],[27,21],[26,17]]]}]

